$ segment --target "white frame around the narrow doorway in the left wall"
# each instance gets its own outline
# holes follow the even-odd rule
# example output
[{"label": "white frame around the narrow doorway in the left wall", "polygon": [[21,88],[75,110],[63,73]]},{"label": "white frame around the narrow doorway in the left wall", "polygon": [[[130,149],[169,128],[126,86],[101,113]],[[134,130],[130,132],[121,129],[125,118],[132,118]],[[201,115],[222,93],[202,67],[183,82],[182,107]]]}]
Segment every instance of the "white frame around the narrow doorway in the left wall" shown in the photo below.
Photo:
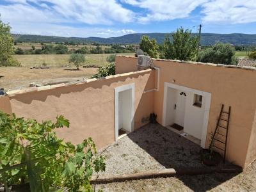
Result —
[{"label": "white frame around the narrow doorway in the left wall", "polygon": [[119,127],[119,93],[131,90],[131,131],[134,131],[134,106],[135,106],[135,83],[125,84],[115,88],[115,141],[118,140],[118,127]]}]

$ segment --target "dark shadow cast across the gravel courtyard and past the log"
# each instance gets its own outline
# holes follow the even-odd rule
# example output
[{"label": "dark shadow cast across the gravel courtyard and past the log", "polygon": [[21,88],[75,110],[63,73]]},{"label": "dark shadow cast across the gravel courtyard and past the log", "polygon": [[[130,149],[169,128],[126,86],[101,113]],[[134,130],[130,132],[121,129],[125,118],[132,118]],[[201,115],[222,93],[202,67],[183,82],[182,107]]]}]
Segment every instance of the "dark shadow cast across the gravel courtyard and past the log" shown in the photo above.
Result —
[{"label": "dark shadow cast across the gravel courtyard and past the log", "polygon": [[[165,168],[182,170],[211,169],[200,161],[199,145],[179,136],[159,124],[148,124],[128,134],[128,137]],[[233,167],[220,164],[218,168]],[[215,167],[216,168],[216,167]],[[214,173],[207,175],[179,176],[178,179],[194,191],[207,191],[231,179],[238,173]]]}]

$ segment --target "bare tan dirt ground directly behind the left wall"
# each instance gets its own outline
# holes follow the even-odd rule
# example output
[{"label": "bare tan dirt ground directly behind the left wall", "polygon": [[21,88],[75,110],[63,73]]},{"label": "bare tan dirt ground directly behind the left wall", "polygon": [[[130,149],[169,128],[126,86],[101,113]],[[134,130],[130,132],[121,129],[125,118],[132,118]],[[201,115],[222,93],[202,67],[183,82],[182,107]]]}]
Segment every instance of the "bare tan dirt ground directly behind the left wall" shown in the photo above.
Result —
[{"label": "bare tan dirt ground directly behind the left wall", "polygon": [[97,73],[98,68],[45,68],[0,67],[0,88],[15,90],[28,87],[30,83],[47,84],[65,81],[77,81],[89,78]]}]

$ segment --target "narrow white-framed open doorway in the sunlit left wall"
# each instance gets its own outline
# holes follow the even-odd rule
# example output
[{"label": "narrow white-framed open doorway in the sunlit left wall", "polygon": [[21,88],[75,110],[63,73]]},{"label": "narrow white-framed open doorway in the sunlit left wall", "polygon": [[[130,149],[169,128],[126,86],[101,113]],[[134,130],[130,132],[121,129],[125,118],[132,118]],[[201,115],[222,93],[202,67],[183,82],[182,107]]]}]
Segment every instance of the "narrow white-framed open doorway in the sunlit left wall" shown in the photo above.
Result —
[{"label": "narrow white-framed open doorway in the sunlit left wall", "polygon": [[115,88],[115,140],[134,129],[134,83]]}]

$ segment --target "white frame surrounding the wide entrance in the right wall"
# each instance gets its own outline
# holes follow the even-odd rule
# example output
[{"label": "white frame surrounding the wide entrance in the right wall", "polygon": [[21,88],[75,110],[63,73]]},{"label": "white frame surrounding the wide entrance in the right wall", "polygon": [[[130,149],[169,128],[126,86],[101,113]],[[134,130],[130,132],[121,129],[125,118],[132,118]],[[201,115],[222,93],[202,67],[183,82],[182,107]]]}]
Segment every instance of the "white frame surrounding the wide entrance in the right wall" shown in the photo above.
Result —
[{"label": "white frame surrounding the wide entrance in the right wall", "polygon": [[[204,108],[204,119],[203,119],[203,126],[202,126],[202,136],[201,136],[201,147],[205,148],[206,144],[206,136],[207,136],[207,128],[208,128],[208,121],[209,121],[209,112],[211,107],[211,93],[202,92],[200,90],[195,90],[193,88],[188,88],[186,86],[180,86],[173,83],[164,82],[164,102],[163,102],[163,118],[162,124],[163,126],[166,125],[166,104],[167,104],[167,93],[168,88],[174,88],[176,90],[184,91],[184,92],[192,92],[198,95],[202,95],[205,97],[205,108]],[[186,111],[185,111],[186,113]]]}]

